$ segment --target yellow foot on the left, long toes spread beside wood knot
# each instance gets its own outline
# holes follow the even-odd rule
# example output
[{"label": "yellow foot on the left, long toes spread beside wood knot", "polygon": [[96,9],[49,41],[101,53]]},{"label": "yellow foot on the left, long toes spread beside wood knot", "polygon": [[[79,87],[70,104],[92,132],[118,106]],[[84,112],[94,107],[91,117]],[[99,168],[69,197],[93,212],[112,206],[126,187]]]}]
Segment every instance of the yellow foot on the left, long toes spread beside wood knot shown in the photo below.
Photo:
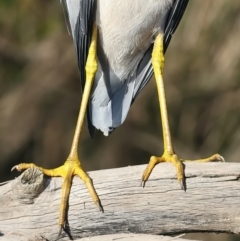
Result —
[{"label": "yellow foot on the left, long toes spread beside wood knot", "polygon": [[[21,163],[12,168],[12,170],[16,169],[18,171],[25,170],[27,168],[38,168],[45,175],[50,177],[61,176],[63,177],[63,185],[62,185],[62,198],[60,204],[60,215],[59,215],[59,226],[60,232],[63,228],[65,228],[66,222],[66,208],[69,199],[70,189],[72,185],[72,178],[74,175],[79,176],[83,182],[86,184],[86,187],[94,201],[94,203],[99,207],[99,210],[103,212],[103,207],[101,201],[94,189],[92,179],[88,176],[88,174],[82,169],[81,164],[78,158],[68,158],[64,165],[55,168],[55,169],[44,169],[42,167],[38,167],[33,163]],[[11,170],[11,171],[12,171]]]}]

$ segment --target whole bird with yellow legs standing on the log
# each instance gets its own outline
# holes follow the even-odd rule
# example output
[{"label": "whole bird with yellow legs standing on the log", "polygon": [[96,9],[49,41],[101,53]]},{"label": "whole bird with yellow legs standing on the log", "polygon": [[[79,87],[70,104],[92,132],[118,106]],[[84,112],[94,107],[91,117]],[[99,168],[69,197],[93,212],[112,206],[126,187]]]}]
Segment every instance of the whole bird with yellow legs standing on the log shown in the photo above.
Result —
[{"label": "whole bird with yellow legs standing on the log", "polygon": [[[33,163],[21,163],[12,169],[22,171],[39,168],[48,176],[63,177],[60,202],[60,232],[66,225],[66,207],[72,178],[77,175],[86,184],[93,201],[103,211],[92,179],[84,171],[79,156],[79,140],[84,120],[90,135],[95,129],[108,136],[126,119],[136,97],[151,77],[155,76],[163,129],[163,155],[152,156],[143,172],[141,186],[145,186],[154,166],[171,162],[177,179],[184,187],[183,162],[174,152],[163,70],[164,54],[172,35],[188,5],[188,0],[60,0],[67,29],[76,50],[82,99],[69,156],[55,169],[44,169]],[[196,161],[221,161],[219,154]]]}]

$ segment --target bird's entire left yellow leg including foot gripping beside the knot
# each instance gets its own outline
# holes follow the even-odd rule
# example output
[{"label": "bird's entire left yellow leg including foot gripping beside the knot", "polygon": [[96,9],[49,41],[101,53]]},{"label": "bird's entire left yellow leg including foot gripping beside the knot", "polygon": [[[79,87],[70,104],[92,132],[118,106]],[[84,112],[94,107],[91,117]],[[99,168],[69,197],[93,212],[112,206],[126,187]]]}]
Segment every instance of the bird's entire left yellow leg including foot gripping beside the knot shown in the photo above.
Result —
[{"label": "bird's entire left yellow leg including foot gripping beside the knot", "polygon": [[82,126],[84,123],[84,117],[86,114],[86,109],[87,109],[89,96],[91,93],[92,84],[93,84],[93,81],[95,78],[95,73],[97,71],[96,54],[97,54],[97,27],[96,27],[96,24],[94,24],[92,40],[90,43],[88,58],[87,58],[86,67],[85,67],[86,82],[85,82],[82,101],[81,101],[81,105],[80,105],[78,121],[77,121],[77,125],[76,125],[76,130],[74,133],[71,151],[70,151],[70,154],[69,154],[66,162],[64,163],[64,165],[62,165],[56,169],[47,170],[42,167],[38,167],[32,163],[29,163],[29,164],[22,163],[22,164],[19,164],[12,168],[12,170],[17,169],[18,171],[22,171],[22,170],[30,168],[30,167],[37,167],[39,170],[41,170],[47,176],[51,176],[51,177],[61,176],[64,178],[63,185],[62,185],[62,198],[61,198],[60,215],[59,215],[59,222],[58,222],[58,224],[60,226],[59,235],[60,235],[62,229],[65,228],[66,208],[67,208],[70,189],[71,189],[71,185],[72,185],[72,178],[74,175],[79,176],[83,180],[83,182],[86,184],[86,187],[87,187],[90,195],[92,196],[93,201],[99,207],[100,211],[103,212],[103,207],[102,207],[100,199],[94,189],[92,180],[88,176],[88,174],[82,169],[81,163],[78,158],[78,145],[79,145],[80,134],[81,134]]}]

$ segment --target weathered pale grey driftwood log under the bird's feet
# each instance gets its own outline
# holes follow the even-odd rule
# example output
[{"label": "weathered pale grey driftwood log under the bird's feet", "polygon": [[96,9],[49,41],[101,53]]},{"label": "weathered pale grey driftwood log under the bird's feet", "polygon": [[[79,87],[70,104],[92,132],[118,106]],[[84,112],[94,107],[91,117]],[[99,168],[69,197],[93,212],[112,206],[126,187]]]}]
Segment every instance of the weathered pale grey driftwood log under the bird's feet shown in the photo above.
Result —
[{"label": "weathered pale grey driftwood log under the bird's feet", "polygon": [[[180,189],[171,163],[157,165],[145,188],[140,187],[144,168],[141,165],[89,172],[104,213],[98,211],[82,181],[75,177],[68,211],[72,236],[90,236],[81,240],[92,241],[119,237],[140,241],[139,235],[136,238],[131,233],[240,233],[240,163],[187,163],[186,192]],[[61,184],[62,178],[44,177],[38,170],[29,169],[0,185],[0,241],[56,238]],[[93,238],[106,234],[117,234],[118,238]],[[172,240],[151,238],[145,240]],[[63,232],[61,240],[68,239]]]}]

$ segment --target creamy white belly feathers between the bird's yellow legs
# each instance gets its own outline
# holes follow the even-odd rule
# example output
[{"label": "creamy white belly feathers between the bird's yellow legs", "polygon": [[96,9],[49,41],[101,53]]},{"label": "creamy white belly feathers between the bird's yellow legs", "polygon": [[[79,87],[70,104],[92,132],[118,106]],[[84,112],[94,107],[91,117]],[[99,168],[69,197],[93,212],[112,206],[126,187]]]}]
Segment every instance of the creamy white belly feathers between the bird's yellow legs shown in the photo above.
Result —
[{"label": "creamy white belly feathers between the bird's yellow legs", "polygon": [[[156,33],[162,32],[173,0],[98,0],[100,44],[119,79],[133,73]],[[163,10],[164,9],[164,10]]]}]

